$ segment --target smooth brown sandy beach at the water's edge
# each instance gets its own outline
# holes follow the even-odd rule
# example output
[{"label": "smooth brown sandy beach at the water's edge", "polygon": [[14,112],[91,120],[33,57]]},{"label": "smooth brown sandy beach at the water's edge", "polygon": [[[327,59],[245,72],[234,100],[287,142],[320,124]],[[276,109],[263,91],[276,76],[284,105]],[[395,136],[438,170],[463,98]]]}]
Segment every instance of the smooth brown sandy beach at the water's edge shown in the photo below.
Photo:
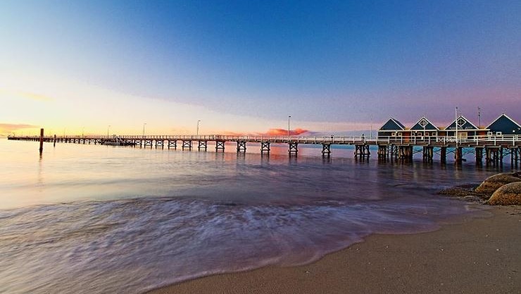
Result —
[{"label": "smooth brown sandy beach at the water's edge", "polygon": [[413,235],[370,235],[301,267],[264,267],[166,293],[521,293],[521,207]]}]

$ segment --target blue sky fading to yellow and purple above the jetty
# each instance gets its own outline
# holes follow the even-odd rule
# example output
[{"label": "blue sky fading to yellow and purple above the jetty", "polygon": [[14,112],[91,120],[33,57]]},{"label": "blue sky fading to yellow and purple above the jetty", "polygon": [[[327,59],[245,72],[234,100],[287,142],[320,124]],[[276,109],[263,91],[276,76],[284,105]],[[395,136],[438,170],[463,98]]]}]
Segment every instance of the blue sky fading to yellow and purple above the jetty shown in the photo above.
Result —
[{"label": "blue sky fading to yellow and purple above the jetty", "polygon": [[521,121],[521,1],[0,1],[0,135]]}]

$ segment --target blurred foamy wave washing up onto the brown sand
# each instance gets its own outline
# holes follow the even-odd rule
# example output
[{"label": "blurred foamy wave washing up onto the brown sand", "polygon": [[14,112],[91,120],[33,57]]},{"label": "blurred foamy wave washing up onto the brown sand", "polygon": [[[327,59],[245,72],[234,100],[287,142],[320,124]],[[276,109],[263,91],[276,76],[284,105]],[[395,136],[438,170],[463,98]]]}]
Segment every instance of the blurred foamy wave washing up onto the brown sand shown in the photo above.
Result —
[{"label": "blurred foamy wave washing up onto the brown sand", "polygon": [[480,209],[441,197],[244,204],[145,197],[0,212],[0,292],[142,293],[313,262],[372,233],[418,233]]}]

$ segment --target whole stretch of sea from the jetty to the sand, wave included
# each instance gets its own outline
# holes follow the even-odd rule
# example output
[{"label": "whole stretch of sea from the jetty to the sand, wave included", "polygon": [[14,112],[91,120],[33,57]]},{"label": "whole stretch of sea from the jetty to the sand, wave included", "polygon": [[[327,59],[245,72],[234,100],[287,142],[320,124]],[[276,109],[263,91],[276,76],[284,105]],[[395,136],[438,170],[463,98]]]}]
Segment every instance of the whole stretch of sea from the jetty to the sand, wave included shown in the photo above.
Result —
[{"label": "whole stretch of sea from the jetty to the sand, wave included", "polygon": [[434,195],[498,169],[0,140],[0,293],[142,293],[291,266],[485,212]]}]

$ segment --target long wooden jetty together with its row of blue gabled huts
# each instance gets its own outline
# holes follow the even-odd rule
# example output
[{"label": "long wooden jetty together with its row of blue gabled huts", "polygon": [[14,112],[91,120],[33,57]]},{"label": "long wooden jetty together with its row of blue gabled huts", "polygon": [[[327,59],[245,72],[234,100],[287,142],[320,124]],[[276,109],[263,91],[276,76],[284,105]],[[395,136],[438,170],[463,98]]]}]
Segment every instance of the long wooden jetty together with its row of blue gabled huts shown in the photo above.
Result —
[{"label": "long wooden jetty together with its row of blue gabled huts", "polygon": [[[457,109],[456,109],[457,113]],[[412,127],[407,128],[396,118],[379,128],[377,136],[265,136],[265,135],[63,135],[45,136],[41,129],[39,136],[8,136],[8,140],[39,141],[40,152],[43,142],[76,143],[92,145],[114,145],[156,148],[197,148],[208,149],[213,142],[215,152],[223,152],[226,145],[235,145],[237,152],[246,152],[248,144],[260,145],[261,154],[270,153],[271,145],[287,145],[289,155],[299,152],[299,145],[320,145],[322,156],[329,157],[334,145],[351,145],[357,159],[368,159],[371,149],[377,149],[378,159],[412,160],[413,155],[422,153],[424,161],[432,161],[439,154],[441,162],[446,162],[447,154],[453,154],[456,162],[465,161],[467,154],[474,154],[477,163],[503,164],[506,157],[517,166],[521,162],[521,125],[512,118],[501,114],[486,127],[474,125],[464,116],[446,127],[438,127],[425,116]],[[289,130],[288,130],[289,134]],[[372,148],[371,148],[372,147]]]}]

